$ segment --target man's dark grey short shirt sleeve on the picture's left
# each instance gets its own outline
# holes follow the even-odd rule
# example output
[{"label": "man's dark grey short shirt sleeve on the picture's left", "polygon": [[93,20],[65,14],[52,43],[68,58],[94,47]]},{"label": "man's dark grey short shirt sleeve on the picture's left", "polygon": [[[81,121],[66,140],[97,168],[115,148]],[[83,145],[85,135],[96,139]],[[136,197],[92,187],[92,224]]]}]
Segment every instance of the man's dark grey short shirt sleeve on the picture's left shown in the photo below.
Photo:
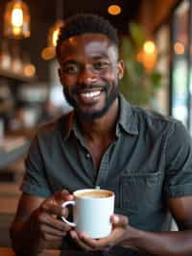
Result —
[{"label": "man's dark grey short shirt sleeve on the picture's left", "polygon": [[25,161],[26,172],[21,185],[21,191],[28,194],[48,197],[52,194],[45,175],[45,166],[36,136],[30,146],[30,150]]}]

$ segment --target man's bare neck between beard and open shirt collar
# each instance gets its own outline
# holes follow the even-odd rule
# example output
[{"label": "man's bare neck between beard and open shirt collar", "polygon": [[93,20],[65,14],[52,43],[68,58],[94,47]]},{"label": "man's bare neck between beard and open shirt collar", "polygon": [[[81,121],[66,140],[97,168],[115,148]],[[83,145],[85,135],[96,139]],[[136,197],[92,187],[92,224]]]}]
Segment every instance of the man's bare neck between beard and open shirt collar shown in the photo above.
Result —
[{"label": "man's bare neck between beard and open shirt collar", "polygon": [[118,97],[114,100],[106,115],[93,120],[79,119],[84,137],[87,140],[108,139],[115,137],[115,128],[119,110]]}]

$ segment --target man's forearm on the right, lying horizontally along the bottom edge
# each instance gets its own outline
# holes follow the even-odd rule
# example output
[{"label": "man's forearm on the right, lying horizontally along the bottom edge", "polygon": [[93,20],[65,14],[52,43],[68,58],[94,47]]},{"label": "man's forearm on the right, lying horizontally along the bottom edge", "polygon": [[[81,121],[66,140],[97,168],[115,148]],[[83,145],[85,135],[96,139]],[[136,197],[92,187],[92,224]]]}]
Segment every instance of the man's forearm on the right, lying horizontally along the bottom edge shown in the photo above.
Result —
[{"label": "man's forearm on the right, lying horizontally along the bottom edge", "polygon": [[[129,234],[129,232],[131,232]],[[132,234],[132,235],[131,235]],[[123,246],[156,256],[191,256],[192,230],[177,232],[145,232],[131,228]],[[132,237],[132,238],[131,238]]]}]

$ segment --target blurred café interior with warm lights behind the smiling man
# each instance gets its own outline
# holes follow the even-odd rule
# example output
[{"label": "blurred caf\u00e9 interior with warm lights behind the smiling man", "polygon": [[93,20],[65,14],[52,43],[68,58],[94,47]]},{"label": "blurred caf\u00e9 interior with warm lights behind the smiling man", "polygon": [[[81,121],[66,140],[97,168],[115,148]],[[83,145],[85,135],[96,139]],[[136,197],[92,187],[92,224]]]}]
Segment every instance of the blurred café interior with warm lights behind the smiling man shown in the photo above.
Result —
[{"label": "blurred caf\u00e9 interior with warm lights behind the smiling man", "polygon": [[[9,225],[38,125],[70,110],[58,78],[55,45],[58,28],[75,13],[108,18],[124,45],[122,59],[129,42],[137,41],[138,47],[131,45],[133,56],[125,56],[132,64],[126,88],[122,85],[128,100],[180,119],[192,134],[192,1],[1,0],[0,247],[11,246]],[[147,101],[132,98],[132,86],[128,89],[141,64],[152,88]]]}]

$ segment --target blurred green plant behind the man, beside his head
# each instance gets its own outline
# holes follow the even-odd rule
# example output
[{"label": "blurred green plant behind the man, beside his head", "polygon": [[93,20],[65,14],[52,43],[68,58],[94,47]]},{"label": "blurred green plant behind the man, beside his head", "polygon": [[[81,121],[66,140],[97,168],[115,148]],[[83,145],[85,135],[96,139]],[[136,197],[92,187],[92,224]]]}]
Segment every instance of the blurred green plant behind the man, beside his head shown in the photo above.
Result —
[{"label": "blurred green plant behind the man, beside his head", "polygon": [[[161,86],[162,74],[156,65],[150,70],[138,61],[146,35],[141,25],[129,25],[130,37],[122,38],[120,55],[125,64],[125,75],[120,81],[120,90],[130,103],[136,106],[151,106],[156,90]],[[158,59],[158,56],[156,57]]]}]

